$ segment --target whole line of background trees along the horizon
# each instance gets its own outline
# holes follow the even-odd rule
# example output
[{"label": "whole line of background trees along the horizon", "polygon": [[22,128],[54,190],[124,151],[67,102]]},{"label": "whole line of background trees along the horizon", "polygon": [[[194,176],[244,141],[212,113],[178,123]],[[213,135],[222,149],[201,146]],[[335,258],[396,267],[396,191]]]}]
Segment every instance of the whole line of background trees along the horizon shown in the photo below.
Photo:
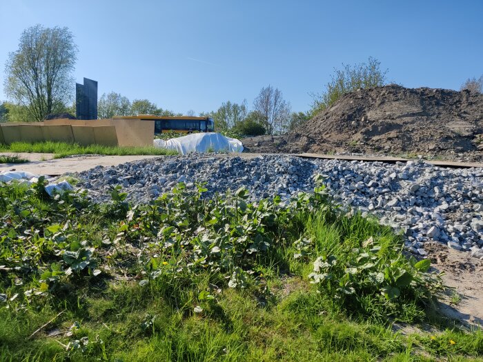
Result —
[{"label": "whole line of background trees along the horizon", "polygon": [[[49,114],[63,112],[75,115],[72,72],[77,52],[68,28],[36,25],[24,30],[18,50],[10,52],[6,61],[4,90],[9,101],[0,103],[0,122],[42,121]],[[199,116],[212,117],[217,132],[283,134],[330,108],[342,94],[359,88],[384,86],[387,72],[373,57],[366,63],[343,64],[342,68],[334,69],[322,93],[311,94],[313,102],[307,112],[292,112],[282,91],[268,85],[260,90],[251,107],[246,99],[240,103],[226,101],[217,110],[201,112]],[[483,76],[468,79],[460,90],[483,92]],[[160,108],[148,99],[130,101],[117,92],[104,93],[99,98],[98,117],[101,119],[137,114],[183,115]],[[186,115],[194,116],[195,112],[189,110]]]}]

